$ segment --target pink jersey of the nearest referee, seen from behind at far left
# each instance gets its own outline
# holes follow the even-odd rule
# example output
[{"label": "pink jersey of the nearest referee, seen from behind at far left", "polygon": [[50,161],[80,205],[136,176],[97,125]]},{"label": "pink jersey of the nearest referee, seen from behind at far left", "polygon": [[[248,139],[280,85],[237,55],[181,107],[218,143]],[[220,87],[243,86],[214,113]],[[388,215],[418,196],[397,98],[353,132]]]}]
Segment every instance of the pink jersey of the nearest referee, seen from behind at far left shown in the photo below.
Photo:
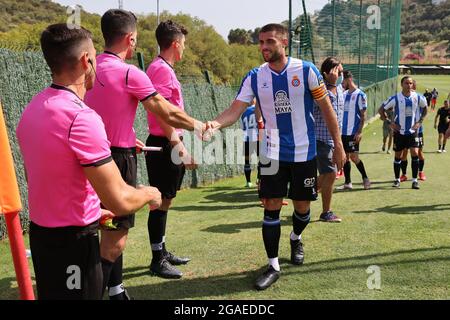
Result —
[{"label": "pink jersey of the nearest referee, seen from behind at far left", "polygon": [[28,180],[30,219],[47,227],[86,226],[100,200],[83,167],[111,159],[101,118],[65,87],[52,85],[28,104],[17,127]]}]

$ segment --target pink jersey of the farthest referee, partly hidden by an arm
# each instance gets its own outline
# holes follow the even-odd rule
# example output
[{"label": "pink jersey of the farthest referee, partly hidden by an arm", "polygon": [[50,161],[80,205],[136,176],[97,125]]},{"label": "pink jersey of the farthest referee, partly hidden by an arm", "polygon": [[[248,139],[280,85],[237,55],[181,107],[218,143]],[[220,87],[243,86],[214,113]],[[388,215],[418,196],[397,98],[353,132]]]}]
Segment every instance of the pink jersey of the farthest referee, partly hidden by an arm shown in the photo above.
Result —
[{"label": "pink jersey of the farthest referee, partly hidden by an arm", "polygon": [[[162,57],[157,57],[148,67],[147,75],[160,95],[174,106],[184,110],[181,84],[177,79],[173,67],[167,61]],[[147,119],[150,134],[165,137],[165,133],[156,116],[151,112],[147,112]],[[182,129],[176,129],[176,131],[179,136],[183,135]]]}]

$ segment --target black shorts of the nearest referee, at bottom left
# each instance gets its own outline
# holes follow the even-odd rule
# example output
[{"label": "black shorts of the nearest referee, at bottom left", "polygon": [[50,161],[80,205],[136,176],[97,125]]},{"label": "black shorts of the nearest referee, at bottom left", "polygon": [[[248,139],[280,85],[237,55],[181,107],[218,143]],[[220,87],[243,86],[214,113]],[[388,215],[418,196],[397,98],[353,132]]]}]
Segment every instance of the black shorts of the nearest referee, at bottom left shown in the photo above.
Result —
[{"label": "black shorts of the nearest referee, at bottom left", "polygon": [[98,222],[64,228],[30,222],[30,247],[39,300],[102,299]]}]

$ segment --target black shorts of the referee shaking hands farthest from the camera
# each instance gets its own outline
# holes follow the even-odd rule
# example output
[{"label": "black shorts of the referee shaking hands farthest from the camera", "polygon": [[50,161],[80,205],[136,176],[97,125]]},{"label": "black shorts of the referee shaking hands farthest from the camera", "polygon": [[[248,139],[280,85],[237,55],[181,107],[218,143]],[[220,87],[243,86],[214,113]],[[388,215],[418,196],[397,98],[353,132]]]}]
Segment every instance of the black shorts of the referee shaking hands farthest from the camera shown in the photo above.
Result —
[{"label": "black shorts of the referee shaking hands farthest from the camera", "polygon": [[162,147],[162,151],[150,151],[145,154],[150,185],[161,192],[162,198],[175,198],[186,172],[184,165],[172,162],[172,146],[167,138],[150,135],[146,145]]}]

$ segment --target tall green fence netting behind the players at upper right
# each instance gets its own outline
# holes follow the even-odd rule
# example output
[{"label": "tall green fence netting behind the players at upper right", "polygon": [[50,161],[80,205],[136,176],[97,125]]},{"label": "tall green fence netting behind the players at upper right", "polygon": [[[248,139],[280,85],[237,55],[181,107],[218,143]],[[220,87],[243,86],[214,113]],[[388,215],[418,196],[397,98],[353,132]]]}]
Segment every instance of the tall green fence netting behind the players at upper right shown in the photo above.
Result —
[{"label": "tall green fence netting behind the players at upper right", "polygon": [[291,23],[293,56],[322,63],[338,57],[361,87],[396,77],[400,56],[401,0],[330,0]]}]

